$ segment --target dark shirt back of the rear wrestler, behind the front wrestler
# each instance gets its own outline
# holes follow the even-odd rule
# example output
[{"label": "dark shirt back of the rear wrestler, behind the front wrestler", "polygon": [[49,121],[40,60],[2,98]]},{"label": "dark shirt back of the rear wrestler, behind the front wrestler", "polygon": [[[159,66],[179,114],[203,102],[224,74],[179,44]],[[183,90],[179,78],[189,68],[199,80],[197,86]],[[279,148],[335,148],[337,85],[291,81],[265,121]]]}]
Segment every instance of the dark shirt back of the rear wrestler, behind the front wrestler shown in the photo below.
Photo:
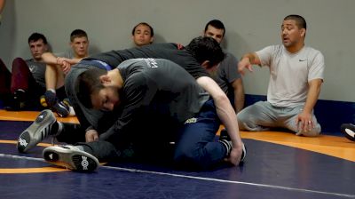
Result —
[{"label": "dark shirt back of the rear wrestler, behind the front wrestler", "polygon": [[141,47],[130,48],[120,51],[111,51],[93,55],[85,60],[101,60],[106,62],[111,68],[117,67],[123,60],[135,58],[154,58],[171,60],[193,76],[195,79],[201,76],[209,76],[201,64],[193,58],[190,52],[177,49],[177,44],[162,43],[149,44]]}]

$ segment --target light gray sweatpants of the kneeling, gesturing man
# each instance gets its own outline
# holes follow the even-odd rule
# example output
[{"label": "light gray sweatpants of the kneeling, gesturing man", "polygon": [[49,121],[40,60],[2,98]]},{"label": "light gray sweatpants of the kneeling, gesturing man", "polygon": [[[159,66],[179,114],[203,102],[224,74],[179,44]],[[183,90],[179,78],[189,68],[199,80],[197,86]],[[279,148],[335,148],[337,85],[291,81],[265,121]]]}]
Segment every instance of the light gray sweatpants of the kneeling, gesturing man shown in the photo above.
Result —
[{"label": "light gray sweatpants of the kneeling, gesturing man", "polygon": [[[321,128],[316,116],[312,113],[314,128],[311,131],[298,131],[296,117],[304,105],[297,107],[274,107],[268,101],[258,101],[238,113],[238,124],[241,131],[270,131],[272,128],[286,128],[296,135],[317,136]],[[300,123],[299,123],[300,124]]]}]

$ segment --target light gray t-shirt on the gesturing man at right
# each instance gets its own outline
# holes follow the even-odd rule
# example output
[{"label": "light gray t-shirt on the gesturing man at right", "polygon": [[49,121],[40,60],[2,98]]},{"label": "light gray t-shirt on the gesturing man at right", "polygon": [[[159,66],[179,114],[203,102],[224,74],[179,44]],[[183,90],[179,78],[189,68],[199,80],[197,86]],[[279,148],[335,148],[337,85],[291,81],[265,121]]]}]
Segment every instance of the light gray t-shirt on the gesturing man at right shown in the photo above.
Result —
[{"label": "light gray t-shirt on the gesturing man at right", "polygon": [[296,107],[307,99],[308,83],[324,79],[324,57],[321,52],[304,46],[290,53],[285,47],[272,45],[256,52],[262,66],[270,68],[267,100],[276,107]]}]

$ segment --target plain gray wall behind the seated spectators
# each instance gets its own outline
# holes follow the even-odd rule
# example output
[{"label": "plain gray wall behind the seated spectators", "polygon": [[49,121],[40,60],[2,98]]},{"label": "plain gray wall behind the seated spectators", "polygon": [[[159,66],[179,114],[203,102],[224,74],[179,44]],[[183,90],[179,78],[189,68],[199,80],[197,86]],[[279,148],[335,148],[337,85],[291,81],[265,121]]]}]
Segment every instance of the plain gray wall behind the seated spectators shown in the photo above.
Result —
[{"label": "plain gray wall behind the seated spectators", "polygon": [[[68,49],[75,28],[87,31],[91,52],[130,47],[131,28],[154,27],[156,42],[187,44],[212,19],[225,23],[225,48],[238,58],[269,44],[280,44],[280,23],[288,14],[308,23],[306,44],[323,52],[325,83],[320,99],[355,101],[355,1],[353,0],[7,0],[0,26],[0,58],[30,57],[28,36],[41,32],[53,52]],[[246,93],[265,95],[267,68],[243,77]]]}]

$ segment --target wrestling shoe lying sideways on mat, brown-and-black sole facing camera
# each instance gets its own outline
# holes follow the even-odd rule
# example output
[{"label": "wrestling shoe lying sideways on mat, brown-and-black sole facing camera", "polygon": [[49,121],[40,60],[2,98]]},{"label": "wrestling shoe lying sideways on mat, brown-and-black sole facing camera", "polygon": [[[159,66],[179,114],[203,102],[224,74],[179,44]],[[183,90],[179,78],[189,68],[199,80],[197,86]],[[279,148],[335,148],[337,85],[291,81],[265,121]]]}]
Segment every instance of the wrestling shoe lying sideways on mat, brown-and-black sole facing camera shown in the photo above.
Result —
[{"label": "wrestling shoe lying sideways on mat, brown-and-black sole facing camera", "polygon": [[43,158],[47,163],[74,171],[95,171],[99,168],[98,158],[71,145],[46,147]]}]

